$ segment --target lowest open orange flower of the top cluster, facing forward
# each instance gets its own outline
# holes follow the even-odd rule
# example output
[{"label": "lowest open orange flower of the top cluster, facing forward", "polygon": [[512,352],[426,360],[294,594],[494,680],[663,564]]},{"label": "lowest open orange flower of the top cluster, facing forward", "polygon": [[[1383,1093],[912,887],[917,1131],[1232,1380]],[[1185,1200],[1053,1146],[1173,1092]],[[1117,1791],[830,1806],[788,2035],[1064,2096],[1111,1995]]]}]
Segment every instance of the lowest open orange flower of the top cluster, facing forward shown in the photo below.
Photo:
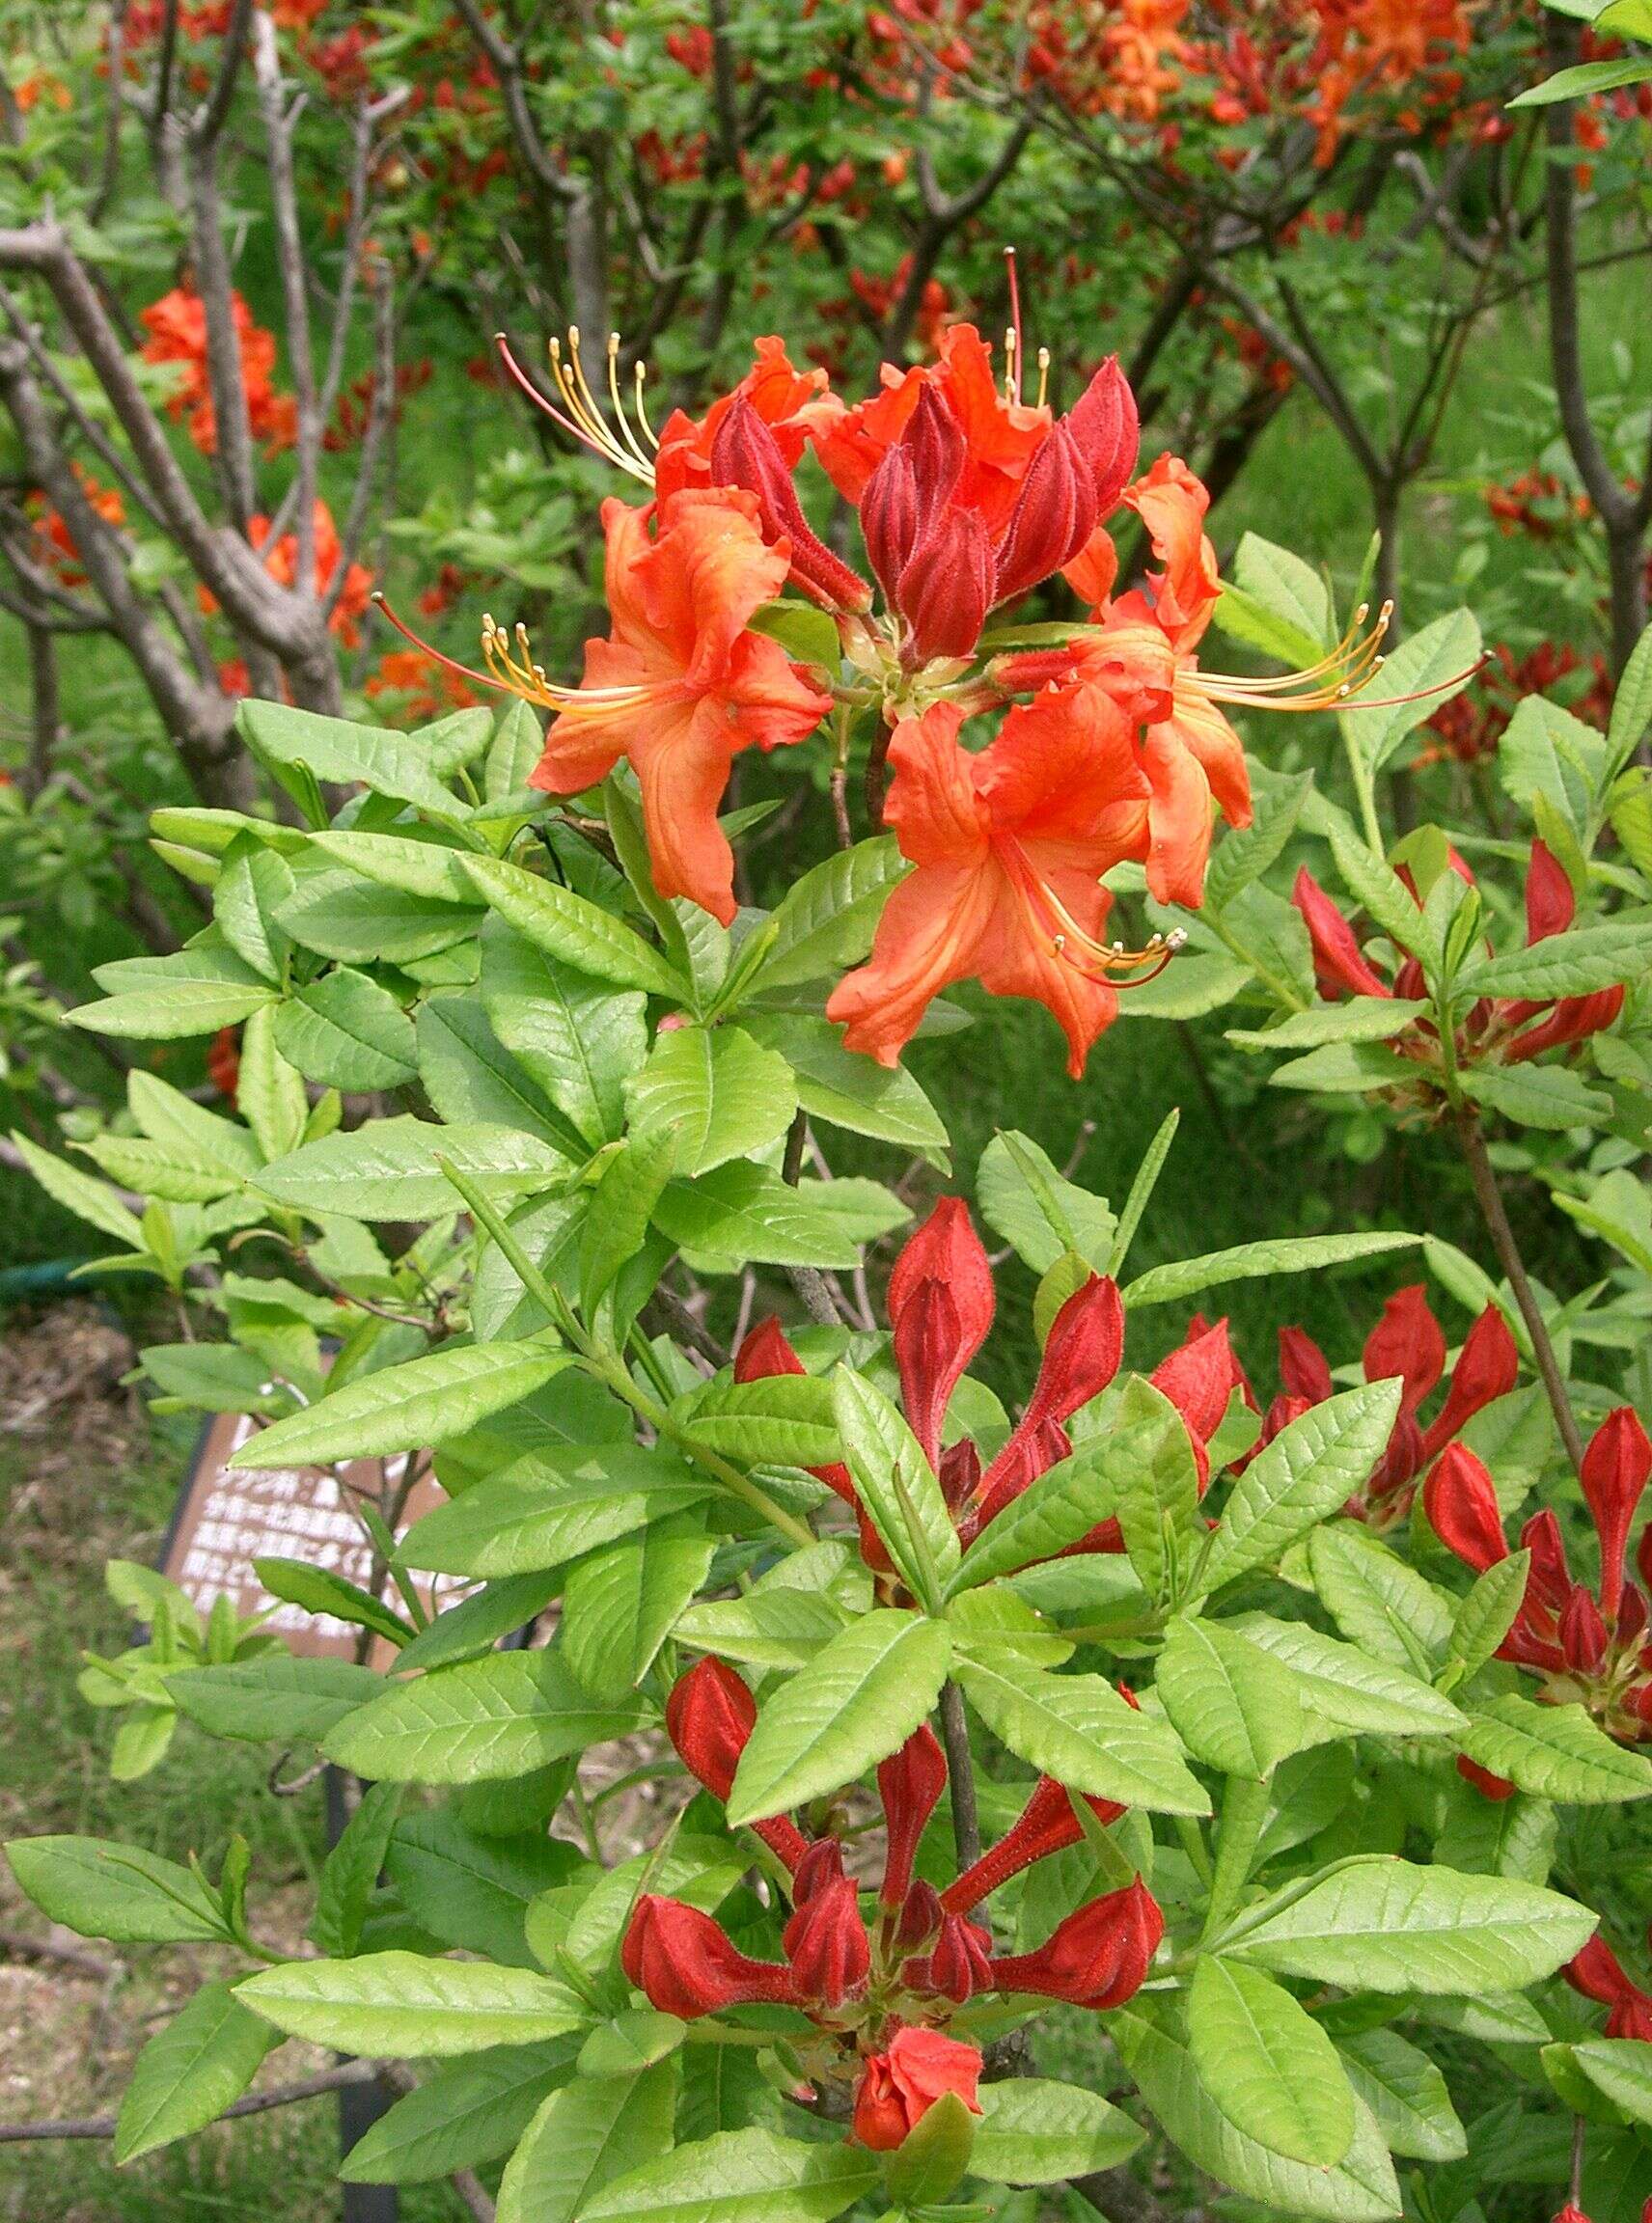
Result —
[{"label": "lowest open orange flower of the top cluster, facing forward", "polygon": [[903,718],[889,742],[885,823],[912,858],[889,896],[872,960],[832,991],[849,1049],[894,1065],[927,1005],[952,980],[994,996],[1032,996],[1061,1020],[1078,1078],[1118,1014],[1114,974],[1161,958],[1127,954],[1101,929],[1112,896],[1101,874],[1141,856],[1150,787],[1123,711],[1101,687],[1047,689],[1014,707],[974,756],[963,711],[936,702]]}]

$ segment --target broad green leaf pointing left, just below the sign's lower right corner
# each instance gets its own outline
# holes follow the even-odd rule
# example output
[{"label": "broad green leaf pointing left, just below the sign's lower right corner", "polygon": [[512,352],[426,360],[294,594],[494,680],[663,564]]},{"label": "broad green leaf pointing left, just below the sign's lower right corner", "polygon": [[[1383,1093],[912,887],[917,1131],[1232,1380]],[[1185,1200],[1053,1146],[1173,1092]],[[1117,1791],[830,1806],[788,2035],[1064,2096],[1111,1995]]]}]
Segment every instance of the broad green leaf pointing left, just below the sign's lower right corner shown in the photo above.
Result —
[{"label": "broad green leaf pointing left, just below the sign's lower right corner", "polygon": [[394,1683],[342,1721],[325,1752],[369,1781],[478,1783],[629,1736],[640,1723],[640,1701],[591,1698],[556,1652],[489,1652]]}]

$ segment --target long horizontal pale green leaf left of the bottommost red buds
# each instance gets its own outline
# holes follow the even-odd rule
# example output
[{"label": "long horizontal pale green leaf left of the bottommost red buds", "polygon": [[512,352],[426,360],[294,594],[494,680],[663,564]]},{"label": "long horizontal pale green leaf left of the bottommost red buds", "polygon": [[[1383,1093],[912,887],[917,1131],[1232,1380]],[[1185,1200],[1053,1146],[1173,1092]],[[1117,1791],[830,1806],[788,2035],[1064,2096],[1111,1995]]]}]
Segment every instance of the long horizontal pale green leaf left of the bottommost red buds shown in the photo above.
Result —
[{"label": "long horizontal pale green leaf left of the bottommost red buds", "polygon": [[245,1976],[236,1996],[289,2038],[394,2061],[560,2038],[589,2018],[567,1985],[534,1970],[416,1952],[285,1961]]}]

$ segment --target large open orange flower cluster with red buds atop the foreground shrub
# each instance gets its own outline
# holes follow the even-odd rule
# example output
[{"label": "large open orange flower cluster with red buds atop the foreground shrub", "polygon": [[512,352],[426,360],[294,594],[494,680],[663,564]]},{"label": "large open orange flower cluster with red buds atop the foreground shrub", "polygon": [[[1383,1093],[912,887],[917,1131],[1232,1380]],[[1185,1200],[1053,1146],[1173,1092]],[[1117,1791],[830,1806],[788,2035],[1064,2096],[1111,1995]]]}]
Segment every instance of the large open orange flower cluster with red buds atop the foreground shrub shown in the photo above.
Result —
[{"label": "large open orange flower cluster with red buds atop the foreground shrub", "polygon": [[[1107,940],[1103,876],[1136,860],[1158,900],[1198,905],[1214,811],[1250,823],[1243,747],[1218,705],[1321,709],[1374,669],[1381,622],[1276,682],[1203,669],[1198,642],[1221,594],[1205,487],[1174,456],[1134,478],[1136,402],[1116,360],[1056,416],[1041,356],[1038,396],[1025,400],[1018,325],[1003,380],[981,333],[954,325],[932,362],[885,365],[856,405],[767,338],[729,393],[700,418],[671,411],[658,436],[640,367],[634,400],[623,398],[618,340],[600,382],[576,333],[567,351],[554,345],[556,400],[502,342],[500,353],[649,500],[603,505],[611,631],[587,642],[580,687],[551,682],[523,627],[507,634],[491,618],[487,669],[454,669],[556,711],[538,789],[574,796],[627,760],[658,894],[725,925],[734,858],[718,805],[734,758],[803,742],[832,716],[843,765],[854,720],[869,716],[869,829],[887,825],[912,871],[827,1016],[885,1065],[934,996],[981,980],[1043,1003],[1076,1076],[1118,1011],[1118,987],[1152,978],[1178,947],[1176,936],[1145,949]],[[854,505],[865,569],[805,518],[805,451]],[[1158,569],[1114,596],[1105,520],[1121,505],[1145,525]],[[1056,574],[1087,618],[1056,647],[1016,654],[1014,620],[994,614]],[[758,622],[785,587],[832,618],[836,654],[798,658],[796,645],[820,636],[792,625],[794,607]],[[987,747],[972,729],[983,716],[998,720]]]}]

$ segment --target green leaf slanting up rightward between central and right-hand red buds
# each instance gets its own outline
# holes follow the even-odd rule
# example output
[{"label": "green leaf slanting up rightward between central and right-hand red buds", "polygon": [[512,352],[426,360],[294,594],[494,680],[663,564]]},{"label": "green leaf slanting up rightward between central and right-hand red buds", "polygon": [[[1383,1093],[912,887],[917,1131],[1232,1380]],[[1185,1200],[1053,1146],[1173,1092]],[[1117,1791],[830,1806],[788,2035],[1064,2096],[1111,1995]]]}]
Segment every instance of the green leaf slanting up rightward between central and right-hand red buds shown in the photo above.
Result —
[{"label": "green leaf slanting up rightward between central and right-hand red buds", "polygon": [[1334,1514],[1387,1449],[1399,1383],[1367,1383],[1314,1405],[1261,1452],[1223,1505],[1201,1572],[1205,1592],[1276,1563],[1298,1536]]}]

